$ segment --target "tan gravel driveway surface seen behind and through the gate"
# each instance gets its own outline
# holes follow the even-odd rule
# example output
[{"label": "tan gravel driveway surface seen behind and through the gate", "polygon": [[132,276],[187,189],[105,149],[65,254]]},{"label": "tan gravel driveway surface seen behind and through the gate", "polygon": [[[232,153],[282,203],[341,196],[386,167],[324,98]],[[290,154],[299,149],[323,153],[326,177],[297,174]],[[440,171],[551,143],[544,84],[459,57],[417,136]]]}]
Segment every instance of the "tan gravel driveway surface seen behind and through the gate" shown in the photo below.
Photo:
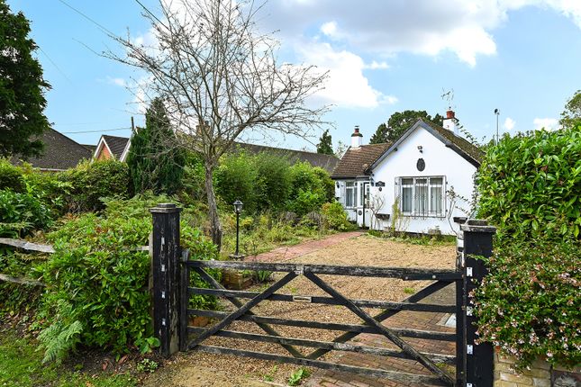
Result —
[{"label": "tan gravel driveway surface seen behind and through the gate", "polygon": [[[358,238],[344,240],[331,247],[302,257],[295,257],[286,262],[302,264],[325,264],[340,266],[393,266],[393,267],[422,267],[422,268],[453,268],[455,264],[455,247],[447,246],[419,246],[404,242],[396,242],[383,238],[374,238],[362,235]],[[279,279],[284,274],[276,273],[273,280]],[[349,277],[340,275],[321,275],[325,282],[351,299],[377,300],[377,301],[401,301],[413,291],[418,291],[427,286],[429,281],[407,282],[389,278]],[[260,291],[269,284],[259,284],[251,287],[250,291]],[[327,295],[315,284],[303,276],[295,278],[291,283],[277,291],[293,295]],[[231,311],[231,304],[222,302],[224,311]],[[338,305],[298,304],[296,302],[260,302],[252,309],[255,314],[261,316],[279,317],[293,320],[314,320],[340,323],[356,323],[362,321],[347,308]],[[378,310],[366,310],[375,314]],[[303,329],[286,326],[272,326],[279,334],[288,338],[309,338],[322,341],[331,341],[341,332],[322,329]],[[264,334],[262,329],[252,323],[237,321],[228,327],[229,330],[239,330],[251,333]],[[286,350],[275,344],[258,343],[247,340],[231,338],[210,338],[204,342],[207,345],[247,349],[252,351],[268,352],[279,355],[288,355]],[[304,354],[313,348],[298,347]],[[331,360],[333,353],[327,354],[322,360]],[[204,367],[214,370],[209,374],[215,374],[214,380],[204,380],[198,374],[207,374],[206,371],[192,373],[191,367]],[[285,384],[286,379],[298,366],[281,365],[276,362],[260,361],[236,356],[216,356],[198,352],[181,354],[177,356],[176,365],[172,366],[172,376],[166,380],[167,385],[265,385],[259,381],[268,380],[275,384]],[[182,369],[183,372],[179,370]],[[178,371],[176,371],[178,370]],[[163,377],[160,373],[160,377]],[[221,382],[215,383],[216,380]],[[252,384],[258,383],[258,384]],[[148,384],[146,384],[148,385]],[[154,385],[154,384],[150,384]],[[271,384],[270,384],[271,385]]]}]

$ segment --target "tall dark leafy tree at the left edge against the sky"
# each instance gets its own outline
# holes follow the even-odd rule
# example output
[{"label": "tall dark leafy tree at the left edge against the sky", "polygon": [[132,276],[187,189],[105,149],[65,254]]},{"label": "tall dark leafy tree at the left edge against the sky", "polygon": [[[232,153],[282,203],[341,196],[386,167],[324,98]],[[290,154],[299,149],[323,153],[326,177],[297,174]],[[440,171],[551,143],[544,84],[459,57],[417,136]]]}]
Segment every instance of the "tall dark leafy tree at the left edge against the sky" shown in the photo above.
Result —
[{"label": "tall dark leafy tree at the left edge against the sky", "polygon": [[35,137],[50,127],[44,115],[50,85],[32,57],[38,47],[30,31],[24,14],[13,14],[0,0],[0,156],[40,155],[42,142]]}]

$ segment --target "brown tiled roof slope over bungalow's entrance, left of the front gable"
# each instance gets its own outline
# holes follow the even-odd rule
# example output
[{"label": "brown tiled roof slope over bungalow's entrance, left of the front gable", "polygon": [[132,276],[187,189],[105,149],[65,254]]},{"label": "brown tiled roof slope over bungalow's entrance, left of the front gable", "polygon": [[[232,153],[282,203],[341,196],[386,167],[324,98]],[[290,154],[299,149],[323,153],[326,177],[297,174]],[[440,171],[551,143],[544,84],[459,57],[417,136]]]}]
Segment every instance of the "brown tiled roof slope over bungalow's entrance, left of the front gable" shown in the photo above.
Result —
[{"label": "brown tiled roof slope over bungalow's entrance, left of the front gable", "polygon": [[359,148],[349,148],[341,157],[331,175],[334,179],[353,178],[365,175],[366,170],[378,157],[386,152],[391,143],[361,145]]}]

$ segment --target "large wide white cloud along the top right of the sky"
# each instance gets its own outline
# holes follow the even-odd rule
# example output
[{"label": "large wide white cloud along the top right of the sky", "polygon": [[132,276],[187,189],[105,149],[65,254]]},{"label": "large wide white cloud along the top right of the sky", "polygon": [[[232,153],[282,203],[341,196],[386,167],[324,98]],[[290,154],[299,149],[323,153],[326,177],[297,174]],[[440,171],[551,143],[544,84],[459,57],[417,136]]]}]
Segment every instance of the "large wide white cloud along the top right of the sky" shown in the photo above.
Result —
[{"label": "large wide white cloud along the top right of the sky", "polygon": [[[283,40],[308,34],[313,26],[346,49],[374,55],[401,52],[440,56],[451,52],[470,67],[496,54],[493,31],[513,11],[536,6],[557,12],[581,28],[581,0],[282,0],[267,4],[267,30]],[[321,23],[323,21],[323,23]],[[315,38],[316,39],[316,38]]]}]

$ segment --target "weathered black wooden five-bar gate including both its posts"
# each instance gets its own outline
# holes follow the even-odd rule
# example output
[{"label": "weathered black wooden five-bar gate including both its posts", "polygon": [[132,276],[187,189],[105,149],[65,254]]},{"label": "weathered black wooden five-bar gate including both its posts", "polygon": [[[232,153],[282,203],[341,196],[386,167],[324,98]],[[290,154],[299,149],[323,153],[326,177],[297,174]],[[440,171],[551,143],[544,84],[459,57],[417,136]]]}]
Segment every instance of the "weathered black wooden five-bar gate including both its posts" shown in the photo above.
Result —
[{"label": "weathered black wooden five-bar gate including both its posts", "polygon": [[[479,221],[468,221],[462,226],[464,246],[458,248],[456,270],[430,270],[421,268],[395,268],[371,266],[326,266],[298,265],[283,263],[257,263],[241,261],[201,261],[189,259],[187,251],[179,246],[179,211],[173,204],[159,204],[151,209],[153,214],[153,312],[154,329],[160,339],[160,350],[169,356],[178,350],[197,350],[213,354],[254,357],[263,360],[313,366],[322,369],[363,374],[367,377],[386,378],[402,383],[457,386],[492,386],[493,352],[487,343],[476,344],[474,317],[469,306],[468,293],[486,275],[483,261],[473,256],[490,257],[492,236],[495,229]],[[227,290],[205,269],[235,269],[270,271],[284,276],[261,292]],[[191,287],[190,273],[197,273],[209,288]],[[432,281],[418,293],[402,302],[350,299],[335,289],[321,275],[342,275],[353,277],[398,278],[404,281]],[[293,295],[277,293],[298,276],[304,276],[320,288],[326,296]],[[424,303],[429,295],[455,284],[456,303],[440,305]],[[194,294],[213,295],[231,302],[234,311],[205,311],[189,309],[189,298]],[[245,300],[245,301],[242,301]],[[256,315],[252,308],[264,301],[310,302],[323,305],[341,305],[348,308],[363,324],[343,324],[313,320],[290,320]],[[378,309],[370,314],[365,309]],[[382,324],[400,311],[444,312],[456,314],[454,333],[419,329],[395,329]],[[189,327],[190,316],[204,316],[217,320],[209,328]],[[265,334],[249,333],[229,329],[234,321],[250,321],[258,325]],[[343,332],[332,341],[281,336],[275,326],[290,326],[307,329],[328,329]],[[350,344],[361,333],[382,335],[398,347],[398,350]],[[250,351],[233,347],[218,347],[204,344],[212,337],[235,338],[283,347],[288,355]],[[422,338],[456,342],[456,355],[426,353],[414,348],[404,338]],[[313,348],[308,353],[297,347]],[[409,374],[394,370],[341,365],[320,360],[330,351],[347,351],[373,356],[391,356],[414,360],[423,365],[430,374]],[[455,374],[449,374],[441,365],[454,365]]]}]

